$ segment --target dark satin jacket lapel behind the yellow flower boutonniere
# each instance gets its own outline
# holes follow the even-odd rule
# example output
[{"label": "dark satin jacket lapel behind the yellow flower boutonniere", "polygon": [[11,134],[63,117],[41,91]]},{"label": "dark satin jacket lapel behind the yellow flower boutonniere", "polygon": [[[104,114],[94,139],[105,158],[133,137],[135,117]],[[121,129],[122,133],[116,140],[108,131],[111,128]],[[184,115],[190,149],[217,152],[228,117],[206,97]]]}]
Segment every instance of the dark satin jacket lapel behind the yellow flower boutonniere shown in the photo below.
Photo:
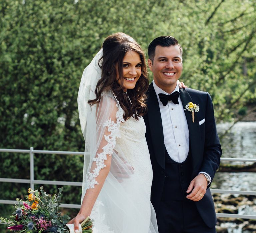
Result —
[{"label": "dark satin jacket lapel behind the yellow flower boutonniere", "polygon": [[[188,91],[186,89],[180,90],[180,99],[183,105],[183,109],[185,109],[185,106],[189,102],[193,102],[191,96],[189,95]],[[191,153],[192,153],[192,167],[193,171],[196,171],[199,169],[197,168],[198,165],[198,159],[201,148],[201,139],[200,139],[200,128],[199,128],[199,122],[197,119],[197,114],[195,113],[195,121],[192,121],[192,114],[189,111],[185,111],[185,116],[187,119],[188,124],[188,130],[189,130],[189,140],[190,140],[190,146],[191,146]]]}]

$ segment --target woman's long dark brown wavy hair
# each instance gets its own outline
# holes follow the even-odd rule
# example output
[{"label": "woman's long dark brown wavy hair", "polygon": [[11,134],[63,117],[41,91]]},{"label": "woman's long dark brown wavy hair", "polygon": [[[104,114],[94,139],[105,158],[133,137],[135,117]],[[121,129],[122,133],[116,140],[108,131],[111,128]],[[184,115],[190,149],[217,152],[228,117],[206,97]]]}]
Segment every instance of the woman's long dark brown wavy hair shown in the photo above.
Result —
[{"label": "woman's long dark brown wavy hair", "polygon": [[[124,120],[131,116],[138,120],[147,111],[145,92],[149,85],[146,58],[143,50],[132,37],[122,32],[108,36],[103,42],[102,49],[103,55],[98,61],[102,74],[96,85],[96,98],[89,100],[88,103],[90,105],[98,104],[101,99],[101,93],[106,90],[112,90],[124,110]],[[140,56],[142,72],[135,88],[127,89],[126,94],[123,91],[123,59],[130,50],[138,53]],[[116,65],[118,67],[121,85],[116,80]]]}]

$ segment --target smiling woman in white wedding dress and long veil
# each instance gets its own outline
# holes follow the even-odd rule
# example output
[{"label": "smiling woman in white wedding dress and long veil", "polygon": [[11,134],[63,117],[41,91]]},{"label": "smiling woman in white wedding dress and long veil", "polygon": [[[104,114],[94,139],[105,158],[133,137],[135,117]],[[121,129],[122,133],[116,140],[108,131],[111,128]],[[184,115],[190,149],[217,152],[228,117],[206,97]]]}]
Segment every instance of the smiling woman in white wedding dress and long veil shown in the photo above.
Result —
[{"label": "smiling woman in white wedding dress and long veil", "polygon": [[156,233],[150,202],[152,166],[142,115],[148,88],[145,55],[124,33],[105,39],[83,72],[78,110],[85,138],[82,205],[94,233]]}]

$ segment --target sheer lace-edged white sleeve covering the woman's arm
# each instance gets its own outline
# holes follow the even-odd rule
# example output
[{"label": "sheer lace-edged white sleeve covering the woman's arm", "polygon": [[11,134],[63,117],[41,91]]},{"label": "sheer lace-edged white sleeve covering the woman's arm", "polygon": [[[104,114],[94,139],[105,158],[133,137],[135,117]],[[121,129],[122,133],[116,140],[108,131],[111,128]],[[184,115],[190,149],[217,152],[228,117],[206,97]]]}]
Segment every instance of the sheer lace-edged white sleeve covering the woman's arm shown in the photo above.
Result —
[{"label": "sheer lace-edged white sleeve covering the woman's arm", "polygon": [[[83,190],[94,188],[94,185],[98,184],[98,182],[96,181],[96,177],[99,175],[100,170],[106,166],[104,161],[107,159],[107,156],[112,155],[116,145],[116,138],[120,137],[120,123],[124,122],[124,111],[120,107],[116,98],[113,98],[113,96],[111,96],[110,94],[106,94],[106,96],[103,96],[101,98],[101,102],[97,106],[95,114],[96,134],[93,135],[91,133],[92,131],[89,130],[91,135],[88,136],[96,136],[96,140],[94,141],[98,149],[92,157],[95,147],[93,148],[92,144],[88,144],[86,141],[86,147],[90,152],[91,166],[86,176],[84,177]],[[90,117],[88,117],[88,119],[90,119]],[[87,126],[90,127],[88,124]],[[92,142],[92,140],[90,141]]]}]

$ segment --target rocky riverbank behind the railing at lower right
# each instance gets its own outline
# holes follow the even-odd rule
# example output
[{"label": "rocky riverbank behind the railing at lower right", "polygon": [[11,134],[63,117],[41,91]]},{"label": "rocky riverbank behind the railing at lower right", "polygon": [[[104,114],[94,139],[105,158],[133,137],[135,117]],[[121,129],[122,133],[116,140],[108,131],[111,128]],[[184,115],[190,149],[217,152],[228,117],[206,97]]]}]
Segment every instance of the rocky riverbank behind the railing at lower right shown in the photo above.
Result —
[{"label": "rocky riverbank behind the railing at lower right", "polygon": [[[213,194],[216,213],[256,215],[256,198],[251,195]],[[256,220],[218,218],[217,233],[256,232]]]}]

